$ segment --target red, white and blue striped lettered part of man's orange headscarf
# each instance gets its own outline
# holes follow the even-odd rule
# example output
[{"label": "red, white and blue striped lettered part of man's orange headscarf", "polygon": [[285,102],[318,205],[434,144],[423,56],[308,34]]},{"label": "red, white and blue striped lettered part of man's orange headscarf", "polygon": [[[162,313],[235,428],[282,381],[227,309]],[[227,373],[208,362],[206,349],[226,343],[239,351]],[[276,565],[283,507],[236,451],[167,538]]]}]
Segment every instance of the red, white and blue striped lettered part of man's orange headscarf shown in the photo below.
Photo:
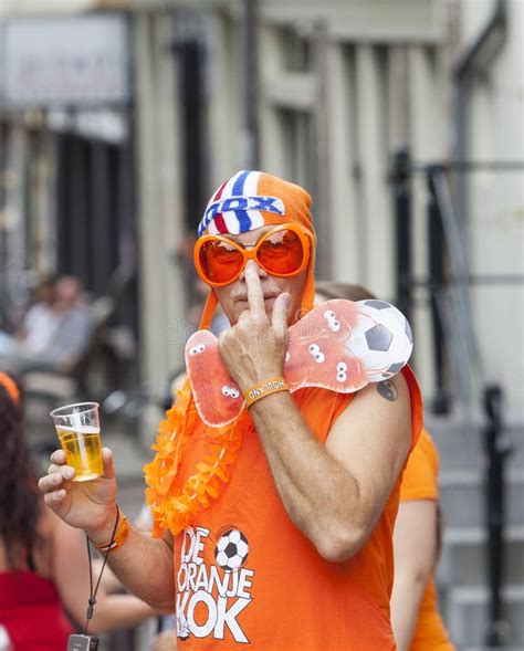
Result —
[{"label": "red, white and blue striped lettered part of man's orange headscarf", "polygon": [[260,171],[242,170],[226,181],[211,197],[198,227],[201,237],[230,233],[238,235],[263,227],[261,211],[284,216],[284,202],[276,197],[259,195]]}]

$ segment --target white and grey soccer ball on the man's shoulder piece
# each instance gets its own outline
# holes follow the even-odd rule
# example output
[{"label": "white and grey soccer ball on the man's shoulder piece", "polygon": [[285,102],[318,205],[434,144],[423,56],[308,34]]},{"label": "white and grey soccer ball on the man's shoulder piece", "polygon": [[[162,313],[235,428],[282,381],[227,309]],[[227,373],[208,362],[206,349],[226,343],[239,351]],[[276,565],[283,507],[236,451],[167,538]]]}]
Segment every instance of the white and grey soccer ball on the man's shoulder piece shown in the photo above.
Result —
[{"label": "white and grey soccer ball on the man's shoulder piece", "polygon": [[380,382],[406,366],[413,348],[407,318],[385,301],[359,301],[358,323],[345,342],[361,359],[370,382]]}]

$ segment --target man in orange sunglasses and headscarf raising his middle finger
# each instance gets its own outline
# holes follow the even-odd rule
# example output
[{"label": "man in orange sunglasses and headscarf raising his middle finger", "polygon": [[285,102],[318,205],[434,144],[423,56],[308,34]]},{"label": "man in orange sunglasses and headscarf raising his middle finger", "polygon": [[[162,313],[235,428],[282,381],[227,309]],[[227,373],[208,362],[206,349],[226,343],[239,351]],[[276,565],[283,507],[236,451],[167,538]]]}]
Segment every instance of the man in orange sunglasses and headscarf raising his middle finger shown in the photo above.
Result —
[{"label": "man in orange sunglasses and headscarf raising his middle finger", "polygon": [[[199,229],[195,258],[210,286],[201,326],[220,302],[232,324],[219,339],[230,376],[244,395],[269,381],[282,390],[209,428],[186,385],[146,468],[159,537],[118,524],[114,571],[155,608],[176,609],[186,649],[396,648],[392,526],[421,398],[407,367],[353,395],[285,390],[287,327],[314,298],[310,207],[302,188],[241,171]],[[77,484],[57,451],[40,482],[48,504],[102,548],[116,512],[111,451],[104,459],[102,479]]]}]

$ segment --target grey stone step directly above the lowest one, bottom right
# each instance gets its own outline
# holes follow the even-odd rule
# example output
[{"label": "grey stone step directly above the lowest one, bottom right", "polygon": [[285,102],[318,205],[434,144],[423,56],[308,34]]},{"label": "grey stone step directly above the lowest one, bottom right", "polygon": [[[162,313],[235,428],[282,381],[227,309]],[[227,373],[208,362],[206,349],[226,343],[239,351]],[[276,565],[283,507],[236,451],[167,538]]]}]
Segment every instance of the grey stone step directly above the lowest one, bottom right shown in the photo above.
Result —
[{"label": "grey stone step directly above the lowest one, bottom right", "polygon": [[[505,532],[505,577],[524,585],[524,527]],[[482,586],[486,582],[486,533],[481,527],[444,529],[442,554],[437,569],[439,586]]]}]

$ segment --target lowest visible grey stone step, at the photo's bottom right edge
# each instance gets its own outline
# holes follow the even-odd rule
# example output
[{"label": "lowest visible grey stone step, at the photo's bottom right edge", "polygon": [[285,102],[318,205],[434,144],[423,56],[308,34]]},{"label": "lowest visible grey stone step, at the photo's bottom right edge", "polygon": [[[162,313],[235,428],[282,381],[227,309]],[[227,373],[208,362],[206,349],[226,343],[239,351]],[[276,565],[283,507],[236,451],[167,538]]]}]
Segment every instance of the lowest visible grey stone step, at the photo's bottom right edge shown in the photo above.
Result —
[{"label": "lowest visible grey stone step, at the photo's bottom right edge", "polygon": [[[504,623],[502,632],[507,647],[524,649],[524,586],[503,590]],[[458,587],[449,591],[446,622],[451,639],[463,651],[486,651],[483,641],[489,618],[489,592],[483,587]],[[464,649],[465,647],[465,649]]]}]

